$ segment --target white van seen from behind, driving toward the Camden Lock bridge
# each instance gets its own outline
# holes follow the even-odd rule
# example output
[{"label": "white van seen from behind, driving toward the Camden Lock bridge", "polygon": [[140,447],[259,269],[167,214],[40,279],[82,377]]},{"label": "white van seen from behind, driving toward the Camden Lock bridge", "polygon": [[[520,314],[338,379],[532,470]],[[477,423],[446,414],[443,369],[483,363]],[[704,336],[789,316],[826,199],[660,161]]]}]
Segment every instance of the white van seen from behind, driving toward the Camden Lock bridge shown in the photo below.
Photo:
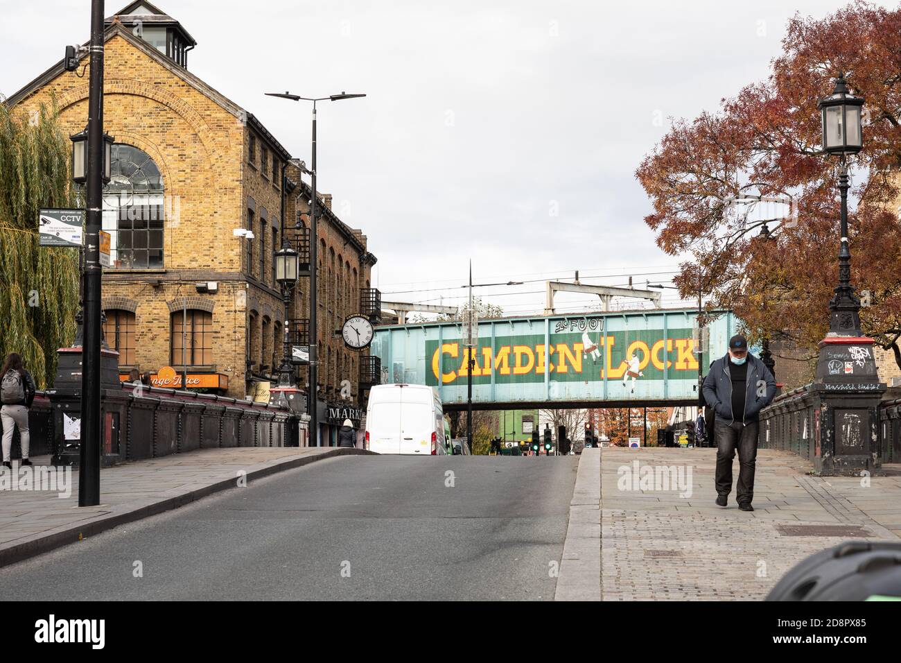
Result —
[{"label": "white van seen from behind, driving toward the Camden Lock bridge", "polygon": [[447,454],[438,391],[424,384],[378,384],[370,389],[366,446],[378,454]]}]

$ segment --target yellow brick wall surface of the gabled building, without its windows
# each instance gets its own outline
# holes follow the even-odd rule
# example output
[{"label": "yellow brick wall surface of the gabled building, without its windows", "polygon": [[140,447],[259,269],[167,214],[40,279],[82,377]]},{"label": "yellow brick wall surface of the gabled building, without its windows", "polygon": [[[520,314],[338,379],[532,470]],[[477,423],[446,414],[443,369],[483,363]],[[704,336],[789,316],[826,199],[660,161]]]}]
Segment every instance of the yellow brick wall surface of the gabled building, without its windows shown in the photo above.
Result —
[{"label": "yellow brick wall surface of the gabled building, without its windows", "polygon": [[[82,60],[84,65],[87,60]],[[231,102],[215,97],[178,76],[169,67],[120,34],[106,41],[104,115],[105,132],[116,143],[132,144],[150,154],[162,174],[165,187],[166,220],[164,225],[163,268],[150,270],[107,269],[103,298],[109,303],[116,298],[135,302],[135,364],[141,371],[155,372],[170,364],[171,302],[181,297],[200,298],[213,303],[214,371],[229,378],[228,394],[243,398],[246,394],[245,360],[268,365],[274,374],[282,355],[281,338],[276,338],[276,323],[284,318],[278,284],[272,282],[272,228],[278,228],[281,217],[281,160],[273,173],[271,145],[241,120],[241,112]],[[79,67],[79,73],[81,72]],[[198,84],[199,85],[199,84]],[[62,72],[31,96],[19,102],[23,113],[36,112],[41,103],[50,106],[53,98],[59,107],[59,120],[68,134],[81,131],[87,118],[88,75]],[[213,98],[211,98],[211,96]],[[224,106],[224,107],[223,107]],[[254,165],[250,164],[250,134],[256,138]],[[268,168],[260,169],[260,149],[268,147]],[[298,180],[296,172],[289,174]],[[286,217],[294,223],[294,195],[287,197]],[[253,261],[247,264],[248,240],[235,237],[233,230],[247,227],[252,198]],[[259,268],[260,217],[266,210],[268,232],[265,233],[265,263]],[[358,278],[344,293],[340,306],[336,299],[321,299],[320,338],[323,341],[320,384],[321,397],[337,399],[342,379],[350,379],[358,393],[359,362],[357,353],[344,347],[333,336],[343,319],[359,308],[359,288],[369,281],[369,267],[361,265],[359,254],[346,237],[328,221],[319,226],[325,242],[324,269],[320,276],[320,297],[328,298],[328,249],[356,267]],[[364,239],[365,242],[365,239]],[[322,256],[321,256],[322,257]],[[153,281],[159,284],[153,285]],[[198,281],[216,281],[218,291],[201,294]],[[308,283],[302,279],[295,290],[292,316],[307,318]],[[333,286],[333,284],[332,284]],[[264,336],[264,320],[268,333]],[[251,345],[252,340],[252,346]],[[326,355],[329,359],[327,360]],[[273,361],[273,356],[276,361]],[[339,364],[340,359],[340,364]],[[274,365],[273,365],[274,364]],[[190,371],[190,369],[189,369]],[[302,372],[302,377],[303,377]]]}]

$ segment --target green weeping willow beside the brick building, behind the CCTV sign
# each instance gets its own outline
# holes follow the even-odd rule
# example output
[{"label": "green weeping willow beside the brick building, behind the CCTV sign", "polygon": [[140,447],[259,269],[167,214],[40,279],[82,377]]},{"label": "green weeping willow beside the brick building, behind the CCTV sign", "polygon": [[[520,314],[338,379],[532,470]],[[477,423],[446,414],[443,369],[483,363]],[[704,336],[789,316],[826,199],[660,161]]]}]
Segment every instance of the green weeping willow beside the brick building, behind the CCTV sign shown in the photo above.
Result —
[{"label": "green weeping willow beside the brick building, behind the CCTV sign", "polygon": [[41,207],[73,207],[71,143],[56,110],[24,116],[0,104],[0,353],[16,352],[39,388],[75,337],[77,249],[40,246]]}]

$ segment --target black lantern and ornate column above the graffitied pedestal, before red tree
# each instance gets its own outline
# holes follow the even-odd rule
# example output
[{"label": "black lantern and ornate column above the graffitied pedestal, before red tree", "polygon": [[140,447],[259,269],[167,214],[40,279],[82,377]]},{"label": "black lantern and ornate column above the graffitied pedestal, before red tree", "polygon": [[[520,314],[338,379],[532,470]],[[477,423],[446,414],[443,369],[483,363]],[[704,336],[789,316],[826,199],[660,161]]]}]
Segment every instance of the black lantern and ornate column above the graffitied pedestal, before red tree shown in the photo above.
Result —
[{"label": "black lantern and ornate column above the graffitied pedestal, before red tree", "polygon": [[835,336],[861,336],[860,299],[851,288],[851,251],[848,248],[848,163],[849,155],[863,147],[860,124],[862,97],[854,97],[843,75],[835,79],[831,97],[817,105],[823,114],[823,152],[839,157],[842,170],[839,190],[842,194],[842,239],[839,249],[839,284],[829,302],[829,331]]}]

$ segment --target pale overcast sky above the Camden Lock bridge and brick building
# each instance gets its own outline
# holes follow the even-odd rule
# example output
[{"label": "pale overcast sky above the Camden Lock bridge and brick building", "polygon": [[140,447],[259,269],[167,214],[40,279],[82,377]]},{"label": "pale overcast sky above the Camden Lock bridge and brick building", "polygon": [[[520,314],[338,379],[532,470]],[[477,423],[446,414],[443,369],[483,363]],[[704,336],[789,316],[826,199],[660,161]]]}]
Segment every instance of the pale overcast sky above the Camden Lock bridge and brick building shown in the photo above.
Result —
[{"label": "pale overcast sky above the Camden Lock bridge and brick building", "polygon": [[[107,2],[105,14],[125,4]],[[189,69],[308,163],[309,107],[263,93],[366,93],[320,107],[319,189],[369,236],[383,299],[456,305],[470,258],[476,283],[577,269],[587,283],[669,283],[678,259],[642,221],[642,156],[669,117],[765,78],[792,14],[846,3],[155,4],[197,40]],[[0,92],[87,41],[89,5],[0,0]],[[613,278],[585,278],[597,275]],[[510,314],[543,308],[542,282],[479,291]],[[665,291],[665,303],[674,297]],[[569,311],[596,299],[559,301]]]}]

